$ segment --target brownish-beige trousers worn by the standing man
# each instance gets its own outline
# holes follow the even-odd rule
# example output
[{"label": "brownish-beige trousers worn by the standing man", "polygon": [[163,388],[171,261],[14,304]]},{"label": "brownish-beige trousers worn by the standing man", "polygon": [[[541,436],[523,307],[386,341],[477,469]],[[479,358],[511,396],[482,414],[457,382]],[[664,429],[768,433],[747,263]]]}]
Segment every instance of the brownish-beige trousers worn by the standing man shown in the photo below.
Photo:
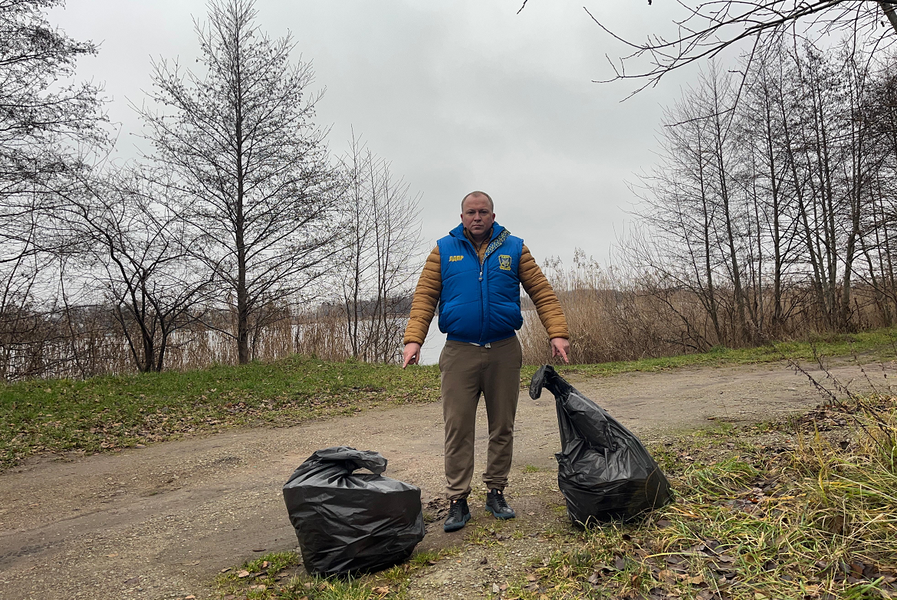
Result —
[{"label": "brownish-beige trousers worn by the standing man", "polygon": [[445,479],[450,500],[466,498],[473,478],[477,404],[482,393],[489,422],[483,483],[508,485],[514,453],[514,418],[523,353],[517,336],[490,347],[446,341],[439,356],[442,415],[445,419]]}]

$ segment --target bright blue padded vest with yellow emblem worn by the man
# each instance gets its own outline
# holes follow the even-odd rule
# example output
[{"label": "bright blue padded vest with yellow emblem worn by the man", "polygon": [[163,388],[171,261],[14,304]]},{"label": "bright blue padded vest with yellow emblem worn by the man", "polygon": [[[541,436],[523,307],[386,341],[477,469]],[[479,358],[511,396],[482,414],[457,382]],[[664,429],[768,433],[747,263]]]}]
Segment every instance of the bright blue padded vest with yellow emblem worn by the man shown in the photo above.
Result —
[{"label": "bright blue padded vest with yellow emblem worn by the man", "polygon": [[513,336],[523,325],[517,272],[523,240],[493,223],[482,266],[464,225],[436,244],[442,270],[439,330],[450,340],[477,344]]}]

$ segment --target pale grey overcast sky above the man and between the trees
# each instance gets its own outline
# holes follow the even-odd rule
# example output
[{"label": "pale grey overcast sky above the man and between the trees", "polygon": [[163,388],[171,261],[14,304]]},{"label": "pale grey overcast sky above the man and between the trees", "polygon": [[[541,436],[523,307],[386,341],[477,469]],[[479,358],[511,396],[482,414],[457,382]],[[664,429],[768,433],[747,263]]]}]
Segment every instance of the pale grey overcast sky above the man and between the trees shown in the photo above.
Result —
[{"label": "pale grey overcast sky above the man and between the trees", "polygon": [[[609,76],[605,55],[621,49],[582,2],[529,0],[517,14],[520,4],[259,0],[256,8],[270,37],[292,34],[295,58],[312,63],[315,89],[326,88],[317,122],[330,128],[331,152],[345,151],[354,128],[420,194],[425,246],[459,222],[464,194],[482,189],[537,261],[569,264],[578,247],[606,264],[631,222],[626,182],[654,162],[661,111],[679,84],[621,102],[631,82],[593,82]],[[669,22],[659,2],[591,4],[636,39]],[[136,155],[140,122],[129,103],[144,102],[151,59],[194,64],[194,19],[206,14],[202,0],[67,0],[51,13],[70,36],[100,44],[78,71],[105,87],[120,156]]]}]

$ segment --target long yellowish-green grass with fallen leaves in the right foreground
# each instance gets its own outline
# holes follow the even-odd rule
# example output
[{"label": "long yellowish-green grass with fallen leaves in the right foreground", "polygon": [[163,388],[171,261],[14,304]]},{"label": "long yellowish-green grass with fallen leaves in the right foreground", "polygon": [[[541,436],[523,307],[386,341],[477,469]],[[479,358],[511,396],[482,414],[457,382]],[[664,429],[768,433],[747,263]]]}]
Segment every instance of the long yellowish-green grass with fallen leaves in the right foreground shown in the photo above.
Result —
[{"label": "long yellowish-green grass with fallen leaves in the right foreground", "polygon": [[[658,453],[676,502],[592,529],[502,597],[897,597],[897,399]],[[676,448],[674,450],[674,448]]]}]

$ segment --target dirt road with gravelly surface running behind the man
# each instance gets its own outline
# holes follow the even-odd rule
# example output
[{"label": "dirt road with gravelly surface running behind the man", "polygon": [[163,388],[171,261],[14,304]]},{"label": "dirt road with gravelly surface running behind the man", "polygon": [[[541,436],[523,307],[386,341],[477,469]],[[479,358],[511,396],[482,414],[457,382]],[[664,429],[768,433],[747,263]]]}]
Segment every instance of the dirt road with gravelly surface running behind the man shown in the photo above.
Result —
[{"label": "dirt road with gravelly surface running behind the man", "polygon": [[[868,378],[886,390],[895,366],[869,365]],[[870,385],[856,366],[830,372],[852,391]],[[811,373],[832,387],[825,373]],[[770,420],[823,400],[805,375],[781,364],[571,382],[645,442],[720,421]],[[478,472],[484,413],[479,423]],[[380,452],[386,475],[419,486],[425,502],[442,493],[441,404],[35,461],[0,475],[0,599],[212,597],[208,584],[221,569],[296,548],[281,486],[312,452],[336,445]],[[532,400],[522,390],[512,505],[524,467],[552,469],[558,446],[553,397]],[[424,543],[445,536],[434,523]]]}]

